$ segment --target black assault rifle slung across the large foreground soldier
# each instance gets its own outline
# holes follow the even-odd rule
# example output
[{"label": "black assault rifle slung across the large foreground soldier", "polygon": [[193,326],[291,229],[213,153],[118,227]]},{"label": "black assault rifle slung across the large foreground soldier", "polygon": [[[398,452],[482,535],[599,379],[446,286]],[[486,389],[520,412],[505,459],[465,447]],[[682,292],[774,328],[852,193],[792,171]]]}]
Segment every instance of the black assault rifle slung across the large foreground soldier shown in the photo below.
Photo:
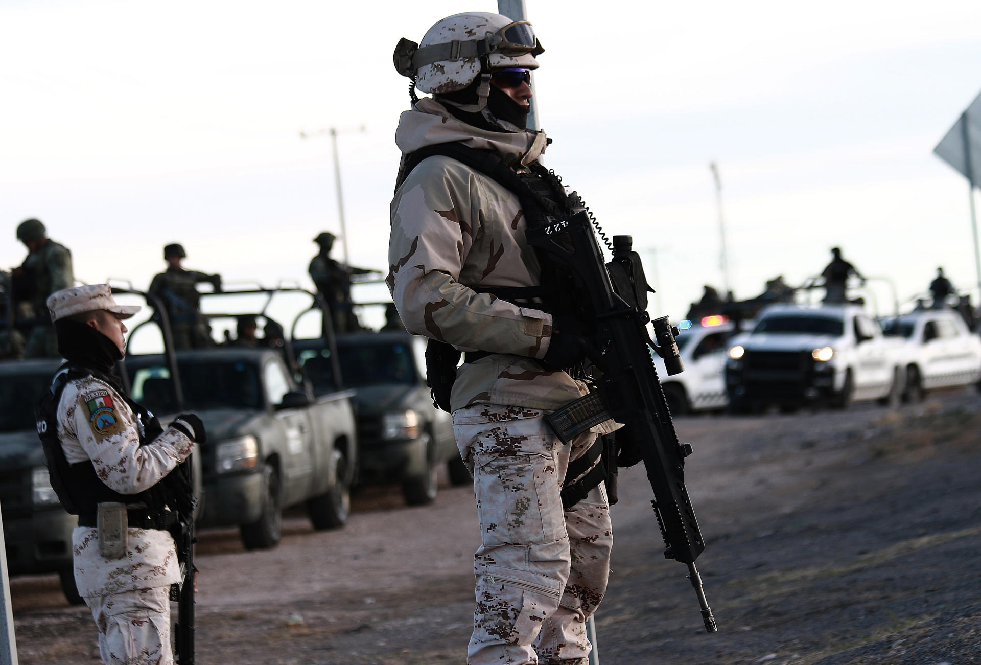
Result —
[{"label": "black assault rifle slung across the large foreground soldier", "polygon": [[[692,453],[692,446],[678,442],[650,355],[652,348],[664,358],[669,374],[681,372],[674,338],[678,329],[662,317],[653,322],[657,343],[647,334],[649,287],[629,235],[614,236],[609,264],[603,263],[587,212],[529,228],[527,238],[571,273],[569,279],[574,283],[568,287],[575,290],[570,292],[576,293],[584,309],[583,318],[594,322],[594,331],[587,333],[591,347],[588,356],[601,373],[594,377],[594,392],[555,411],[547,421],[564,442],[609,418],[623,424],[615,433],[620,465],[644,460],[654,491],[650,503],[666,545],[664,556],[688,564],[688,578],[697,593],[705,631],[714,633],[715,619],[695,567],[705,544],[685,488],[685,458]],[[615,467],[616,460],[612,465]]]}]

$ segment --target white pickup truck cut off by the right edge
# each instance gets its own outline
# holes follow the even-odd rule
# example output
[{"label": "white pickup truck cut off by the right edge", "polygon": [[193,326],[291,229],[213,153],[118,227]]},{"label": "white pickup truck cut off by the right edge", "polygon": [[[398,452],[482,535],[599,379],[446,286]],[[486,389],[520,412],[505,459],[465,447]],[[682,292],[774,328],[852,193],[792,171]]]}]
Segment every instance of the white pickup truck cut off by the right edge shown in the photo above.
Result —
[{"label": "white pickup truck cut off by the right edge", "polygon": [[954,310],[919,310],[880,323],[886,336],[904,340],[905,400],[981,378],[981,337]]}]

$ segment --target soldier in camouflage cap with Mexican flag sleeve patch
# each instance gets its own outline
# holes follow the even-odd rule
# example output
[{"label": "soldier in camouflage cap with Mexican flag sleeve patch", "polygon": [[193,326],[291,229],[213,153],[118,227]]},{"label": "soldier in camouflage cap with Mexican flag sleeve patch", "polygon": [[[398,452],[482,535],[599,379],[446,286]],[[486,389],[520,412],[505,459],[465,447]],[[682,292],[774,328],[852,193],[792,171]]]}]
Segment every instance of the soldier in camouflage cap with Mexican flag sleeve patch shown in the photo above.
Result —
[{"label": "soldier in camouflage cap with Mexican flag sleeve patch", "polygon": [[[124,319],[106,284],[53,293],[47,307],[67,360],[37,408],[51,485],[78,515],[72,535],[78,593],[92,611],[104,663],[173,663],[170,586],[180,580],[174,511],[192,509],[176,467],[206,439],[193,414],[167,429],[111,373],[125,352]],[[103,509],[119,505],[117,529]],[[125,506],[125,509],[123,508]]]}]

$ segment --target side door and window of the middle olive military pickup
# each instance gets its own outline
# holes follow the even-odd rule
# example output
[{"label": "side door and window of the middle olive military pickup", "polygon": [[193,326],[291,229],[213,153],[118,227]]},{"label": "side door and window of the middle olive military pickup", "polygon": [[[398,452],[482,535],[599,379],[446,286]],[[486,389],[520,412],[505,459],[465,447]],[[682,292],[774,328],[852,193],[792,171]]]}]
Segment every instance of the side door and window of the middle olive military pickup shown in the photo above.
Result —
[{"label": "side door and window of the middle olive military pickup", "polygon": [[280,422],[283,441],[283,500],[284,505],[309,495],[313,481],[313,428],[307,408],[277,409],[284,395],[292,388],[286,368],[278,357],[267,360],[263,368],[263,384],[275,418]]}]

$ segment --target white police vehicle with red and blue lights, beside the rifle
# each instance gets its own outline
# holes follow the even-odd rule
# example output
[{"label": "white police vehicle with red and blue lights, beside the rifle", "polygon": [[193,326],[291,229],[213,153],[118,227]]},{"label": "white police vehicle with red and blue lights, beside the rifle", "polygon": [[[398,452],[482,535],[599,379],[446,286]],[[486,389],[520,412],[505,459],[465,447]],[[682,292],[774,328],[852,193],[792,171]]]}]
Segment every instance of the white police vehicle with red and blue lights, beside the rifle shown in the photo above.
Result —
[{"label": "white police vehicle with red and blue lights, beside the rifle", "polygon": [[684,372],[668,376],[664,361],[656,353],[651,354],[671,415],[724,409],[729,402],[724,374],[726,349],[736,327],[727,317],[715,315],[704,317],[697,324],[681,321],[678,328]]}]

